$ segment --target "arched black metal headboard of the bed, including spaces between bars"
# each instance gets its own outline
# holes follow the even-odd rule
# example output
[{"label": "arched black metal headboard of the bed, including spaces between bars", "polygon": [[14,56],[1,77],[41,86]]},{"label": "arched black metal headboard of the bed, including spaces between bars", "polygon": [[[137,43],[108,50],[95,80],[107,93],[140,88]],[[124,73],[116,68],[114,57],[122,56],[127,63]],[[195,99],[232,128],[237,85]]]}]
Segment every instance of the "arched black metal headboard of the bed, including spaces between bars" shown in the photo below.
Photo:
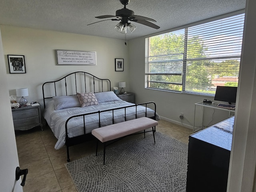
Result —
[{"label": "arched black metal headboard of the bed, including spaces between bars", "polygon": [[56,81],[45,82],[42,90],[45,108],[45,100],[52,96],[76,95],[77,92],[110,91],[111,83],[109,79],[101,79],[90,73],[77,71]]}]

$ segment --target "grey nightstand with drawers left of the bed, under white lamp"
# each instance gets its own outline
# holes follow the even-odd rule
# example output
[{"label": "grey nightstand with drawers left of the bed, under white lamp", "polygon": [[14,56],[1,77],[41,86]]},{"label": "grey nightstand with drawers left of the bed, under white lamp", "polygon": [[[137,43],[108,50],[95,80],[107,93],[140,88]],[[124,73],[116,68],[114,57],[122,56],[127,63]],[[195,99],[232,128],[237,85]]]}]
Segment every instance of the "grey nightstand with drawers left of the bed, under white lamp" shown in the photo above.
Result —
[{"label": "grey nightstand with drawers left of the bed, under white lamp", "polygon": [[41,105],[27,105],[20,108],[12,108],[12,119],[14,130],[29,130],[40,126],[43,131]]}]

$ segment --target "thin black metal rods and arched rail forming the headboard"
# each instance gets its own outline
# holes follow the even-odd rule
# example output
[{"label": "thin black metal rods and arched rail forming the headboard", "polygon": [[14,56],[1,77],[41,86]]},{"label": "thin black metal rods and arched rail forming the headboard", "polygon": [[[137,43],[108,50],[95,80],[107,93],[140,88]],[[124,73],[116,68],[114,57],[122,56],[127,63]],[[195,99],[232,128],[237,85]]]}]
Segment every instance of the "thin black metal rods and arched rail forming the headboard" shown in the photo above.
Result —
[{"label": "thin black metal rods and arched rail forming the headboard", "polygon": [[[110,83],[110,80],[109,80],[109,79],[98,78],[98,77],[96,77],[96,76],[94,76],[94,75],[92,75],[92,74],[90,74],[90,73],[84,72],[84,71],[73,72],[73,73],[70,73],[70,74],[68,74],[68,75],[66,75],[66,76],[64,76],[64,77],[62,77],[62,78],[56,80],[56,81],[45,82],[45,83],[42,85],[43,100],[44,100],[44,108],[45,108],[45,100],[52,98],[52,96],[51,96],[51,97],[45,97],[45,95],[44,95],[44,86],[45,86],[46,84],[53,83],[53,84],[54,84],[55,96],[57,96],[56,82],[59,82],[59,81],[61,81],[61,80],[64,79],[64,80],[65,80],[64,86],[65,86],[65,90],[66,90],[66,95],[68,95],[68,93],[67,93],[67,86],[68,86],[68,83],[67,83],[67,81],[66,81],[66,78],[67,78],[68,76],[71,76],[72,74],[74,74],[74,80],[75,80],[74,86],[75,86],[76,92],[77,92],[76,74],[78,74],[78,73],[84,73],[84,88],[85,88],[85,92],[87,91],[87,90],[86,90],[86,76],[93,78],[93,92],[94,92],[94,93],[95,93],[95,91],[96,91],[96,90],[95,90],[95,80],[98,80],[99,82],[101,81],[101,91],[99,90],[98,92],[103,92],[103,81],[108,82],[108,84],[109,84],[109,89],[108,89],[108,90],[109,90],[109,91],[111,90],[111,83]],[[72,85],[71,85],[71,86],[72,86]],[[76,95],[76,93],[74,93],[74,94],[72,94],[72,95]]]}]

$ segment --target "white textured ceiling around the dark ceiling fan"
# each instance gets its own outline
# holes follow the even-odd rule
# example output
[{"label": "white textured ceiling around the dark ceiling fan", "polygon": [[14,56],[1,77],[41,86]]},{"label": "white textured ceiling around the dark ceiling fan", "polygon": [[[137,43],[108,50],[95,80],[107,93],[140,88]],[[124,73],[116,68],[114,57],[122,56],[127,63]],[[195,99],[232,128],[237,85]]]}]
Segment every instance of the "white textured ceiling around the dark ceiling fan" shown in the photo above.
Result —
[{"label": "white textured ceiling around the dark ceiling fan", "polygon": [[[168,30],[245,8],[246,0],[130,0],[126,8],[135,15],[153,18],[156,30],[137,26],[127,39]],[[123,39],[114,30],[118,21],[100,21],[100,15],[115,15],[123,8],[119,0],[1,0],[0,24]],[[103,20],[103,19],[102,19]]]}]

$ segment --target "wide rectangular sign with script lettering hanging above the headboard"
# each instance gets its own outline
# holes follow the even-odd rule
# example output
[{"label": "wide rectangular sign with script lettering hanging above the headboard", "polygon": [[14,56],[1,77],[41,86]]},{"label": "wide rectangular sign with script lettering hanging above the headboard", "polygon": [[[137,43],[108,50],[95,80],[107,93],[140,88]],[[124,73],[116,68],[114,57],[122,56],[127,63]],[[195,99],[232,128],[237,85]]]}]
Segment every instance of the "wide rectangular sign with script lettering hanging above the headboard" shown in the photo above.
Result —
[{"label": "wide rectangular sign with script lettering hanging above the headboard", "polygon": [[57,65],[96,65],[95,51],[56,50]]}]

